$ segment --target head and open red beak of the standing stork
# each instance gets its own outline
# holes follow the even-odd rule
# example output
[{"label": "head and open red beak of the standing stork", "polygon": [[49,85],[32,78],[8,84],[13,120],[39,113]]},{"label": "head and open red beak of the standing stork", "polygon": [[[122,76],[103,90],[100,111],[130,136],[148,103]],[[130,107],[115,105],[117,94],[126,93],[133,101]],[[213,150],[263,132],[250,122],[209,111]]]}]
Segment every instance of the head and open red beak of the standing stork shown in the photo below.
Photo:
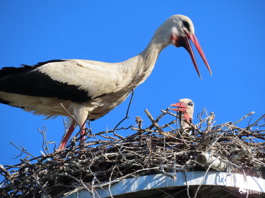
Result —
[{"label": "head and open red beak of the standing stork", "polygon": [[[188,52],[190,57],[192,58],[192,62],[194,64],[194,67],[200,77],[200,72],[192,51],[192,47],[190,45],[189,39],[192,41],[192,43],[195,45],[196,49],[198,50],[199,54],[201,55],[204,63],[206,64],[210,74],[212,75],[212,72],[210,70],[209,64],[202,52],[202,48],[199,44],[199,41],[197,40],[195,34],[194,34],[194,26],[192,24],[192,21],[183,15],[173,15],[169,17],[160,27],[156,30],[154,37],[156,37],[158,40],[162,42],[167,42],[167,44],[172,44],[176,47],[184,47]],[[153,37],[153,38],[154,38]],[[166,43],[165,43],[166,44]]]}]

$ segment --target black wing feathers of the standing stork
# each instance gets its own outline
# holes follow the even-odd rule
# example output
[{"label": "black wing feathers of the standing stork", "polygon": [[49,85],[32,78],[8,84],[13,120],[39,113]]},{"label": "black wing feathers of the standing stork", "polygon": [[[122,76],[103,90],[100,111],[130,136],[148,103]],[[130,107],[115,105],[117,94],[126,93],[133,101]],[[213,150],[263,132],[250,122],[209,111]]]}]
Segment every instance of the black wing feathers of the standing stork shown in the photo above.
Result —
[{"label": "black wing feathers of the standing stork", "polygon": [[4,67],[0,70],[0,91],[27,96],[55,97],[72,102],[90,100],[91,97],[86,91],[78,89],[75,85],[52,80],[36,69],[47,63],[63,61],[66,60],[50,60],[33,66],[22,65],[23,67],[19,68]]}]

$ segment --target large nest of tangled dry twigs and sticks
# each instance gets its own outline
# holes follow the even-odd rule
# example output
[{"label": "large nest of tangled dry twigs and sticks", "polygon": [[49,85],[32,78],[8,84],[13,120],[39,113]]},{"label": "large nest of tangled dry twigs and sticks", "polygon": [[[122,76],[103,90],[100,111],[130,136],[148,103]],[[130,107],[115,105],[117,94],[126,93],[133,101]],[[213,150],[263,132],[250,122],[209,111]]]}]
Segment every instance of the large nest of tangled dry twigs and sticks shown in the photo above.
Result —
[{"label": "large nest of tangled dry twigs and sticks", "polygon": [[[52,142],[46,142],[45,130],[40,131],[44,136],[41,156],[30,157],[20,149],[28,154],[20,164],[0,166],[5,176],[0,196],[61,197],[81,189],[95,195],[95,187],[157,173],[176,179],[176,171],[215,170],[264,178],[265,114],[239,128],[235,125],[254,112],[235,123],[214,126],[214,114],[205,110],[198,114],[198,124],[185,120],[181,111],[161,111],[154,120],[145,110],[152,122],[147,128],[142,128],[140,117],[128,128],[118,129],[121,122],[113,130],[95,134],[87,128],[86,143],[76,146],[80,139],[77,134],[65,149],[52,153],[47,149]],[[170,121],[163,126],[159,122],[159,126],[157,122],[165,115]],[[183,122],[189,126],[185,128]],[[122,137],[117,130],[127,130],[131,135]]]}]

